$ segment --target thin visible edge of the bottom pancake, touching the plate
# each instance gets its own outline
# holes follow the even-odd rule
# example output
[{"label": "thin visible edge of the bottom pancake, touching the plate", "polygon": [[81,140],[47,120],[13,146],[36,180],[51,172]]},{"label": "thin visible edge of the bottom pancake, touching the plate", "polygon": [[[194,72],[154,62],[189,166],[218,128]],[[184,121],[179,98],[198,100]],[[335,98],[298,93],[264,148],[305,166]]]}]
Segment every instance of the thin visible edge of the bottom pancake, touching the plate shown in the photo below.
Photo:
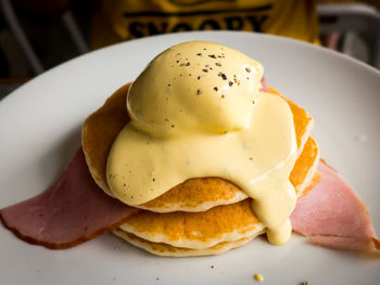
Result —
[{"label": "thin visible edge of the bottom pancake, touching the plate", "polygon": [[219,243],[208,248],[191,249],[185,247],[174,247],[164,243],[152,243],[119,229],[114,230],[113,233],[136,247],[139,247],[153,255],[165,257],[198,257],[219,255],[230,249],[245,245],[255,237],[249,236],[235,242]]}]

